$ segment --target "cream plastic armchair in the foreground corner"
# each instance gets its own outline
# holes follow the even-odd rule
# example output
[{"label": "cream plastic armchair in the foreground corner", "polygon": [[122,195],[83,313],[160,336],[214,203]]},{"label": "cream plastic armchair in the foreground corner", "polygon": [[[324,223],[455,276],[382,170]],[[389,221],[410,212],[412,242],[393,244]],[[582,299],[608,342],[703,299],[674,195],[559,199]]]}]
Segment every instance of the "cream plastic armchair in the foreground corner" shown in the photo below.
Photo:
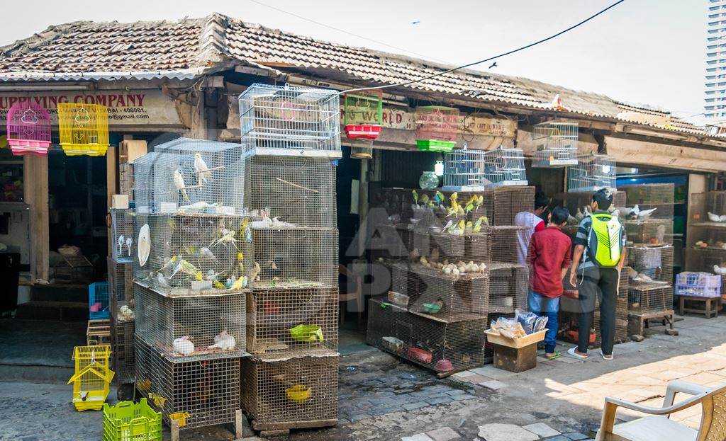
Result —
[{"label": "cream plastic armchair in the foreground corner", "polygon": [[[677,392],[693,395],[674,404]],[[700,404],[703,408],[698,430],[669,419],[669,415]],[[651,416],[614,424],[617,408],[647,413]],[[614,424],[614,425],[613,425]],[[603,422],[597,441],[722,441],[726,439],[726,385],[705,387],[682,381],[668,384],[662,408],[650,408],[613,397],[605,398]]]}]

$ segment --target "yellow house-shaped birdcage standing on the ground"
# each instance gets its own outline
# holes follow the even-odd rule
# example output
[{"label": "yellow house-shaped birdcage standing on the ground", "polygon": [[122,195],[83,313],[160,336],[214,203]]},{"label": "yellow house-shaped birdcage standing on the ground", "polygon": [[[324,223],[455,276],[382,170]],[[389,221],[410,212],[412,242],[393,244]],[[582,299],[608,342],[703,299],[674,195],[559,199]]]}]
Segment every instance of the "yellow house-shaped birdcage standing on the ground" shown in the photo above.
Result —
[{"label": "yellow house-shaped birdcage standing on the ground", "polygon": [[73,382],[73,405],[76,411],[100,411],[113,380],[113,371],[108,367],[111,355],[110,345],[76,346],[73,360],[76,360],[76,374],[68,380]]}]

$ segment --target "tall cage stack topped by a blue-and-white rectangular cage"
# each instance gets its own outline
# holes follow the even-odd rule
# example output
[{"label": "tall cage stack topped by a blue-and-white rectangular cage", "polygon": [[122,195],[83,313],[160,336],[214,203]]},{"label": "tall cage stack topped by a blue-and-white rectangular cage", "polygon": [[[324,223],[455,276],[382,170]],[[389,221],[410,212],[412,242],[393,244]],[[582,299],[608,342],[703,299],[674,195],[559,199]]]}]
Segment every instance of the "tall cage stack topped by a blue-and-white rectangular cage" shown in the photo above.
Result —
[{"label": "tall cage stack topped by a blue-and-white rectangular cage", "polygon": [[253,429],[338,422],[336,91],[253,84],[239,97],[254,262],[240,402]]}]

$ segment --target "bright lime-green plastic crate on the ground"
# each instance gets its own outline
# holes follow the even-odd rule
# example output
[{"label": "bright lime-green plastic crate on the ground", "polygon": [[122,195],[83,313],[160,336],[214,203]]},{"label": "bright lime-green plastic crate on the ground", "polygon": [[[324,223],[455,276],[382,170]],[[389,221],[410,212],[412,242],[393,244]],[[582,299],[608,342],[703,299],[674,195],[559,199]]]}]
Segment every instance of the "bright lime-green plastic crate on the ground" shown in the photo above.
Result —
[{"label": "bright lime-green plastic crate on the ground", "polygon": [[161,413],[146,398],[103,405],[103,441],[161,441]]}]

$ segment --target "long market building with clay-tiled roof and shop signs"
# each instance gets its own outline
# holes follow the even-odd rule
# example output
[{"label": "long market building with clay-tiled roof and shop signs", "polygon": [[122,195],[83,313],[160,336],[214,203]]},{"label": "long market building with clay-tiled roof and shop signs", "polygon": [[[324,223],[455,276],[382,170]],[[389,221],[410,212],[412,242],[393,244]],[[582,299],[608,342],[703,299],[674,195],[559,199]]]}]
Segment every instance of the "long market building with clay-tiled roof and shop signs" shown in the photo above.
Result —
[{"label": "long market building with clay-tiled roof and shop signs", "polygon": [[[385,189],[415,189],[423,172],[444,161],[441,153],[417,147],[417,107],[457,109],[457,147],[521,149],[529,186],[560,201],[567,172],[533,167],[536,127],[554,120],[574,123],[576,153],[611,157],[618,186],[672,185],[673,208],[666,217],[673,223],[674,272],[685,267],[688,237],[700,234],[691,231],[693,214],[705,204],[696,205],[692,195],[723,189],[726,138],[664,110],[526,78],[457,70],[417,81],[449,68],[219,14],[175,22],[73,22],[4,46],[1,123],[16,102],[40,105],[56,125],[59,103],[101,104],[108,109],[110,132],[105,156],[67,156],[55,125],[47,156],[1,150],[0,242],[20,253],[17,318],[87,318],[83,294],[86,284],[106,278],[106,257],[115,245],[106,214],[113,195],[129,189],[129,160],[179,136],[239,142],[237,97],[253,83],[346,91],[412,82],[383,91],[382,129],[370,159],[351,157],[361,144],[342,137],[336,164],[340,271],[353,280],[341,288],[346,293],[340,297],[341,318],[348,318],[346,329],[359,341],[364,296],[372,289],[364,283],[368,270],[361,269],[370,254],[359,246],[370,235],[369,212]],[[78,247],[78,258],[59,253],[65,245]]]}]

